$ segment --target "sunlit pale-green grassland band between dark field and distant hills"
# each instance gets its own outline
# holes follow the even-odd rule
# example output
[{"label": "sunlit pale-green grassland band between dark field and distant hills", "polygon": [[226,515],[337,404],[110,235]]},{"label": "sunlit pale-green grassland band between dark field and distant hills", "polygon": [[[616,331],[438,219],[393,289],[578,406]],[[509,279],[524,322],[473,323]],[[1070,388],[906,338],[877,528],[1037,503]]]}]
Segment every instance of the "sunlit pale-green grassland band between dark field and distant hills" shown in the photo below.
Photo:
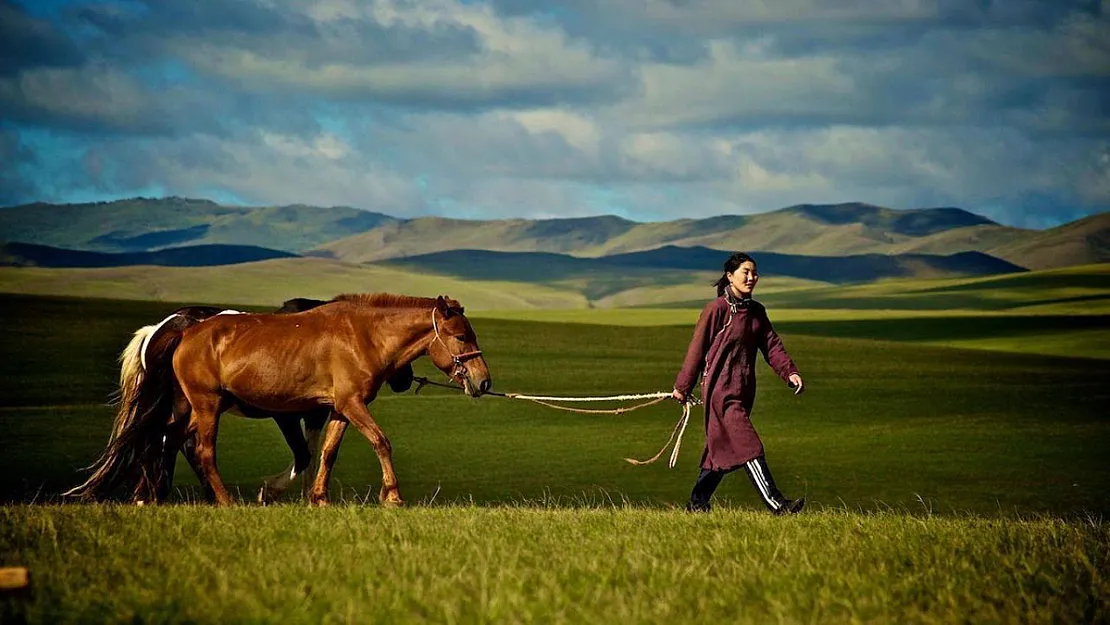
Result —
[{"label": "sunlit pale-green grassland band between dark field and distant hills", "polygon": [[[354,265],[323,259],[280,259],[196,269],[0,268],[0,292],[266,306],[293,295],[329,298],[341,292],[381,290],[425,295],[448,293],[464,300],[472,310],[700,309],[713,296],[712,283],[719,278],[712,271],[599,269],[592,260],[567,256],[547,258],[549,263],[498,264],[490,261],[496,254],[477,254],[485,259],[482,263],[446,263],[434,268]],[[848,285],[765,274],[757,298],[777,310],[901,311],[899,316],[917,310],[1108,313],[1110,264],[1003,276],[887,280]]]}]

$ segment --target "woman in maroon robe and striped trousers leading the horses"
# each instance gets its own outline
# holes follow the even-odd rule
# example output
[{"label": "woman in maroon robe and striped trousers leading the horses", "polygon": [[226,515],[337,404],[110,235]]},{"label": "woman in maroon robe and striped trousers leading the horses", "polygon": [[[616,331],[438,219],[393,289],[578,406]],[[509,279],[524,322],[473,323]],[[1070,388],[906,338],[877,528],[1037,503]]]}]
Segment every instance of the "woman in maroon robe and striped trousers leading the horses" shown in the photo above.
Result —
[{"label": "woman in maroon robe and striped trousers leading the horses", "polygon": [[773,513],[796,514],[806,504],[805,498],[786,498],[775,486],[763,442],[751,426],[757,349],[775,373],[795,389],[795,394],[805,389],[798,367],[767,319],[767,310],[751,299],[758,280],[751,256],[745,253],[729,256],[725,274],[717,281],[717,299],[702,311],[675,380],[673,396],[685,402],[698,374],[704,373],[705,451],[702,472],[686,505],[692,512],[708,512],[709,497],[725,474],[740,467]]}]

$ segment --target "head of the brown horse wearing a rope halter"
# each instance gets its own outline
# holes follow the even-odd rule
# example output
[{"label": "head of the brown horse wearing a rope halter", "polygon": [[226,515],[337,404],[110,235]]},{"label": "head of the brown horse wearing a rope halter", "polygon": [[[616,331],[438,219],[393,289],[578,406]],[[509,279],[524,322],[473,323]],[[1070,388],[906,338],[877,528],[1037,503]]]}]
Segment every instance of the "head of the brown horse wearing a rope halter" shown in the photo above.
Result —
[{"label": "head of the brown horse wearing a rope halter", "polygon": [[482,357],[478,337],[457,301],[440,295],[432,309],[433,339],[427,356],[440,371],[463,385],[467,395],[477,397],[493,381]]}]

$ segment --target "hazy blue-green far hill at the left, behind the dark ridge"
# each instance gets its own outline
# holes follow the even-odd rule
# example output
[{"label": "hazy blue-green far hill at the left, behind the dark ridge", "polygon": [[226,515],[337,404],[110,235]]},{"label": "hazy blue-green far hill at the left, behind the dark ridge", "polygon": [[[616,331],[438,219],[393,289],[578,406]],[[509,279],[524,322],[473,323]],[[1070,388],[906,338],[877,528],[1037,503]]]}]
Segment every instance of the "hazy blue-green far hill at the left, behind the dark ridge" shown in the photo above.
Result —
[{"label": "hazy blue-green far hill at the left, behind the dark ridge", "polygon": [[234,244],[296,252],[395,221],[344,206],[226,206],[208,200],[135,198],[0,209],[7,241],[100,252]]}]

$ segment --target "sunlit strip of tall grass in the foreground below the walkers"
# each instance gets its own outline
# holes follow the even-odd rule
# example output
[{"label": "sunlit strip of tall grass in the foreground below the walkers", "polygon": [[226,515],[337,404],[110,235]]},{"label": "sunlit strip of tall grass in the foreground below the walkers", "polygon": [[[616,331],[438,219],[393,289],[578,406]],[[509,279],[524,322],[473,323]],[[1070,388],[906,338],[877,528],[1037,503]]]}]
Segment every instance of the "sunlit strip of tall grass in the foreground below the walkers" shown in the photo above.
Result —
[{"label": "sunlit strip of tall grass in the foreground below the walkers", "polygon": [[1110,531],[599,505],[0,508],[34,623],[1099,623]]}]

